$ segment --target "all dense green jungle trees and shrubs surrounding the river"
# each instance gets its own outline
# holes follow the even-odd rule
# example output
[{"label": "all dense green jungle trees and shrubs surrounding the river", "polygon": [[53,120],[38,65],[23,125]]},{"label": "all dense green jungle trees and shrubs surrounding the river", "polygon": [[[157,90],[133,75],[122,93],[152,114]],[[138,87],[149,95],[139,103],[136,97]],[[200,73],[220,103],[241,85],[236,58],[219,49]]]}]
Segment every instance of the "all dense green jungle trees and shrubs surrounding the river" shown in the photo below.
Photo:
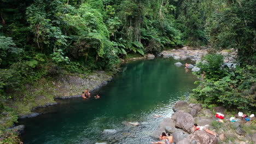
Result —
[{"label": "all dense green jungle trees and shrubs surrounding the river", "polygon": [[213,65],[201,64],[206,79],[195,97],[255,110],[255,7],[254,0],[2,0],[0,113],[42,77],[115,71],[127,53],[183,45],[237,49],[236,70],[219,69],[218,56],[205,58]]}]

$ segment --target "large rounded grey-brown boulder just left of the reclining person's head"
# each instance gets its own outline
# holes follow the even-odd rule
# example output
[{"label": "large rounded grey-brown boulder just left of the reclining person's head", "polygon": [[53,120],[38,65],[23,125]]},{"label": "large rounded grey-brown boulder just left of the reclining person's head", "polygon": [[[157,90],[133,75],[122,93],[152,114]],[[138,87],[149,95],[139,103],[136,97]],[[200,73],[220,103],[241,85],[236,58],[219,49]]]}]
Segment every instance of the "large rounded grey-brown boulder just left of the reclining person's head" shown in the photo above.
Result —
[{"label": "large rounded grey-brown boulder just left of the reclining person's head", "polygon": [[175,123],[176,128],[182,128],[184,131],[191,134],[193,132],[193,127],[195,119],[189,113],[177,112],[177,119]]}]

